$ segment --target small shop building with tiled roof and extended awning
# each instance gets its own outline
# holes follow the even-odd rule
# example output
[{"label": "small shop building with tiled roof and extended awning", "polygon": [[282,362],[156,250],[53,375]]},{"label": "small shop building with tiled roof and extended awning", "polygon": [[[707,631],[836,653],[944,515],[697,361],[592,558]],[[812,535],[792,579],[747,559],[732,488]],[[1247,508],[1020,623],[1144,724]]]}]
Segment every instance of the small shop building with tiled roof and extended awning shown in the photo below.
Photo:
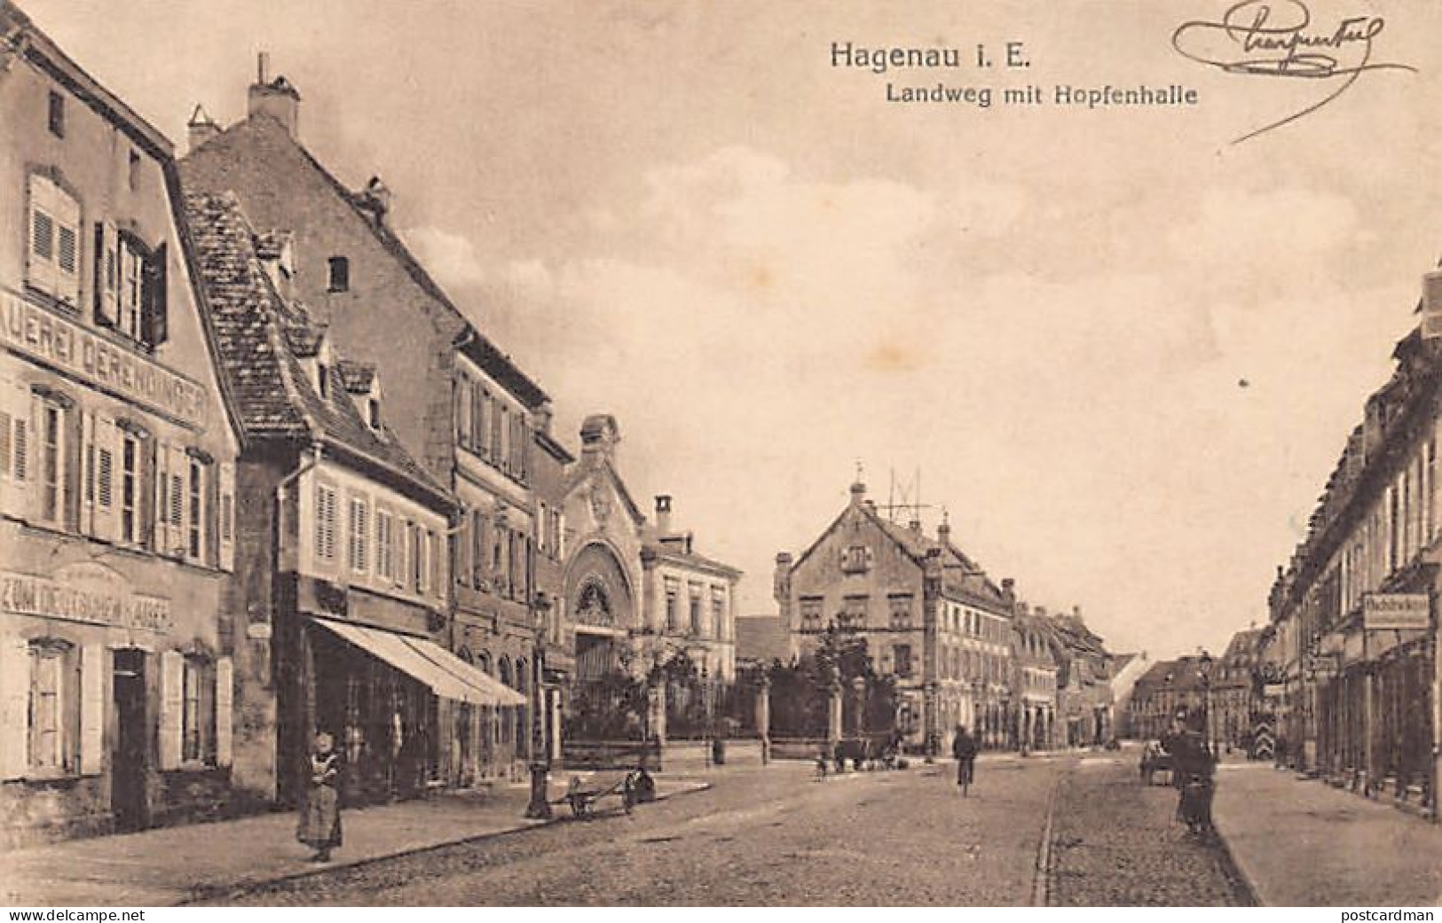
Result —
[{"label": "small shop building with tiled roof and extended awning", "polygon": [[470,785],[525,700],[447,651],[456,504],[389,429],[376,370],[291,298],[286,236],[258,235],[229,194],[186,210],[245,435],[235,785],[296,803],[317,731],[350,802]]}]

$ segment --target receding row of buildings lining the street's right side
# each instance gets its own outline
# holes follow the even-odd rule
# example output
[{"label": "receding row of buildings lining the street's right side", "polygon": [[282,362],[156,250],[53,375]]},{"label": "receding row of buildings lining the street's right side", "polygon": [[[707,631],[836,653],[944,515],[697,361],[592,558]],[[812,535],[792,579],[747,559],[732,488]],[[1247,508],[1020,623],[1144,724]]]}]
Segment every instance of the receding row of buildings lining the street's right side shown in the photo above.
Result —
[{"label": "receding row of buildings lining the street's right side", "polygon": [[1282,762],[1435,819],[1442,271],[1423,276],[1419,311],[1393,350],[1390,380],[1347,438],[1306,539],[1278,567],[1255,659]]}]

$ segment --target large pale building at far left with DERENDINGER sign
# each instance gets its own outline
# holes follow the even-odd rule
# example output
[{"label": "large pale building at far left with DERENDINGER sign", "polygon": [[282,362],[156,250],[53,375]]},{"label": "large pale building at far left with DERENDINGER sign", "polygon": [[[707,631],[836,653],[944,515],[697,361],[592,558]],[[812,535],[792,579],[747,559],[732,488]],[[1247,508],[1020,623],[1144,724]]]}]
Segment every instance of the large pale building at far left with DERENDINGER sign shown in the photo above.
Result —
[{"label": "large pale building at far left with DERENDINGER sign", "polygon": [[0,847],[228,809],[239,448],[169,141],[0,4]]}]

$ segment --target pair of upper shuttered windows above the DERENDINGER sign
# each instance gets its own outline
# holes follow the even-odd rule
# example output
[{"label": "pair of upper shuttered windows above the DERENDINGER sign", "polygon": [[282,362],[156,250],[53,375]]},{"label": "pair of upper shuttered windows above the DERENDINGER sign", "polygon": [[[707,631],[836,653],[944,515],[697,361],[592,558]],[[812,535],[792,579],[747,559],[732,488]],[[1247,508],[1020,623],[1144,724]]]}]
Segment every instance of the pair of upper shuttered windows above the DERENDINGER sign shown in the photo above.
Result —
[{"label": "pair of upper shuttered windows above the DERENDINGER sign", "polygon": [[[108,220],[94,222],[92,310],[97,325],[154,347],[169,336],[166,311],[167,248],[149,246]],[[32,173],[25,282],[35,292],[79,311],[85,248],[79,202],[48,176]]]}]

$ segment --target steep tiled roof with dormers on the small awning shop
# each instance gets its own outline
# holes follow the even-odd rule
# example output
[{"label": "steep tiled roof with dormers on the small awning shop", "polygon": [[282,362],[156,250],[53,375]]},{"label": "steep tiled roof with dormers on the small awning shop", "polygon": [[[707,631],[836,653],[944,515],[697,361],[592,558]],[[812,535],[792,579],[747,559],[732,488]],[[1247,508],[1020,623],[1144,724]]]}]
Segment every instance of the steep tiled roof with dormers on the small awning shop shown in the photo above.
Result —
[{"label": "steep tiled roof with dormers on the small awning shop", "polygon": [[[451,505],[447,491],[382,426],[360,419],[340,370],[330,367],[322,397],[301,364],[303,344],[323,337],[298,302],[280,297],[261,268],[255,233],[234,196],[189,193],[186,200],[219,347],[221,372],[235,395],[239,423],[251,438],[322,441],[389,474],[401,490]],[[310,353],[313,354],[313,353]]]}]

